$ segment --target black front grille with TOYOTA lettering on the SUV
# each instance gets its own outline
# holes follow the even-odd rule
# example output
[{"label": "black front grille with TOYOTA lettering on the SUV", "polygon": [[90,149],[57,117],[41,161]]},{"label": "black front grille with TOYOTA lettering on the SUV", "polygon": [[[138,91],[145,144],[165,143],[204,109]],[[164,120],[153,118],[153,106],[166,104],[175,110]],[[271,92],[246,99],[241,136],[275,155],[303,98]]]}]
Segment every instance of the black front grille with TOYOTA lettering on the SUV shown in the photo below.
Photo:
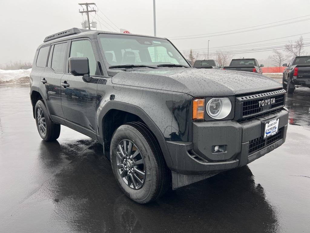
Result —
[{"label": "black front grille with TOYOTA lettering on the SUV", "polygon": [[[237,97],[236,107],[240,106],[240,108],[242,108],[239,110],[240,118],[248,119],[253,116],[256,117],[257,115],[265,115],[276,111],[285,105],[285,93],[286,91],[281,89],[272,92]],[[239,111],[236,109],[236,112]]]}]

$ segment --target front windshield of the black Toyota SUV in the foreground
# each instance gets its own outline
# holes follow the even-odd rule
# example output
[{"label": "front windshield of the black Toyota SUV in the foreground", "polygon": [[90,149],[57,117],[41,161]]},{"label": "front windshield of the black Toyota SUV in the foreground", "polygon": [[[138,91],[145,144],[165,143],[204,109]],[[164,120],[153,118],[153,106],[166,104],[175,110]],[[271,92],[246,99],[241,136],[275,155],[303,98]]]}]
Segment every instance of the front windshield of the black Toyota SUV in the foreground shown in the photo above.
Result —
[{"label": "front windshield of the black Toyota SUV in the foreground", "polygon": [[165,39],[99,34],[99,40],[108,66],[177,64],[189,67],[182,55]]}]

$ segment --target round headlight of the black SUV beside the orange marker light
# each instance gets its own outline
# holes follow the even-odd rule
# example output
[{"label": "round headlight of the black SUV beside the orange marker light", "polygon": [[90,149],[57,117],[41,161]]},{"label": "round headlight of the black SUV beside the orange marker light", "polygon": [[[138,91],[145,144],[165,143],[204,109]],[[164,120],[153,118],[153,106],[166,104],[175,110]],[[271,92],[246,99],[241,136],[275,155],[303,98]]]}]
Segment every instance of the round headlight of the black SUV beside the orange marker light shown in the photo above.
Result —
[{"label": "round headlight of the black SUV beside the orange marker light", "polygon": [[232,103],[229,98],[212,98],[207,103],[206,111],[214,119],[227,117],[232,110]]}]

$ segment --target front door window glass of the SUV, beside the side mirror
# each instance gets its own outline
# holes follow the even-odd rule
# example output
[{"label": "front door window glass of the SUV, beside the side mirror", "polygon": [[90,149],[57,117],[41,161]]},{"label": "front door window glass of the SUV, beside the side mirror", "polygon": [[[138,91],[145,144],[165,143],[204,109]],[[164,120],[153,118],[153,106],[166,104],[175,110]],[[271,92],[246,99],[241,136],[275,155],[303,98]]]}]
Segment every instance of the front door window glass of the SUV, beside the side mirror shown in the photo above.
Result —
[{"label": "front door window glass of the SUV, beside the side mirror", "polygon": [[89,75],[96,73],[96,60],[91,42],[89,40],[77,40],[71,43],[70,57],[87,57],[89,63]]}]

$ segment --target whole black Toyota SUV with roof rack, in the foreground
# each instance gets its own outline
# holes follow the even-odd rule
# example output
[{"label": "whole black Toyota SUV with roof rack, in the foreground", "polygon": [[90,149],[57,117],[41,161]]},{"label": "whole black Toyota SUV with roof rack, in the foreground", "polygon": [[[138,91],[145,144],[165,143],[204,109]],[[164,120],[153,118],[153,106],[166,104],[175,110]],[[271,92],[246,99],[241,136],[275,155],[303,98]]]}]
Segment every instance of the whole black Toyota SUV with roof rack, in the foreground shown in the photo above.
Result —
[{"label": "whole black Toyota SUV with roof rack, in the foreground", "polygon": [[278,82],[192,68],[164,38],[77,28],[47,36],[30,87],[42,139],[56,140],[63,125],[98,140],[138,203],[245,166],[286,138]]}]

